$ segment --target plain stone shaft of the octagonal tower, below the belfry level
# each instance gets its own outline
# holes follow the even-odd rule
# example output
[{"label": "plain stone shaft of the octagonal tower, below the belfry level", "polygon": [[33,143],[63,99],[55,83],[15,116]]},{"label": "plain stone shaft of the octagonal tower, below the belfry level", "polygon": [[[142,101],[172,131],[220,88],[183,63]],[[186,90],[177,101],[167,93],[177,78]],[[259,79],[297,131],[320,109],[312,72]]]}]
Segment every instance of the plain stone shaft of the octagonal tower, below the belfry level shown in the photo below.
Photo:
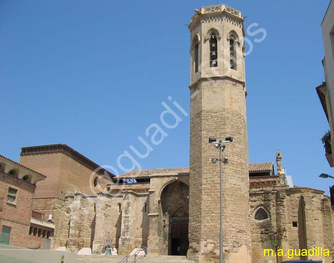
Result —
[{"label": "plain stone shaft of the octagonal tower, below the belfry level", "polygon": [[[230,164],[223,168],[224,253],[226,262],[239,257],[250,261],[248,146],[245,91],[229,79],[201,82],[191,100],[190,250],[199,262],[219,256],[219,164],[211,163],[219,151],[208,143],[232,136],[224,152]],[[201,101],[201,103],[198,102]],[[200,107],[201,105],[201,107]],[[233,220],[230,220],[233,219]],[[200,225],[200,227],[199,227]],[[243,234],[236,234],[243,230]],[[233,240],[240,247],[233,250]],[[198,256],[196,256],[196,254]],[[194,256],[193,256],[194,255]],[[247,261],[247,262],[248,262]]]}]

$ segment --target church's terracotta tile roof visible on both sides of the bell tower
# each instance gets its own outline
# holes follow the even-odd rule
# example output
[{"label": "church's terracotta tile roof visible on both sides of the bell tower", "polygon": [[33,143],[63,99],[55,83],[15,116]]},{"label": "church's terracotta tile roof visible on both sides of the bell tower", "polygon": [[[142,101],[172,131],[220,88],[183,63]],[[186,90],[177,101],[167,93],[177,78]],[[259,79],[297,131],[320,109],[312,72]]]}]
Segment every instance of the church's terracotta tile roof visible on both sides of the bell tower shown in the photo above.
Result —
[{"label": "church's terracotta tile roof visible on both sides of the bell tower", "polygon": [[[273,162],[269,163],[253,163],[249,164],[249,172],[267,172],[273,169]],[[152,176],[177,176],[179,174],[189,174],[189,167],[181,168],[162,168],[162,169],[146,169],[132,170],[123,173],[117,177],[119,179],[135,179],[135,178],[150,178]]]}]

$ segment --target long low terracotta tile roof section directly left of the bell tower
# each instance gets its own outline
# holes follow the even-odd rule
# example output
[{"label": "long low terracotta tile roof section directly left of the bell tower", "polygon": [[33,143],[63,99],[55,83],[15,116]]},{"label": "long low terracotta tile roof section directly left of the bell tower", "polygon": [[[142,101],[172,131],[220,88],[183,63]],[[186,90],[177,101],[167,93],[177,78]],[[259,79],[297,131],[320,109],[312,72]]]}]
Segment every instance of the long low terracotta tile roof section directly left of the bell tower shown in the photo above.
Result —
[{"label": "long low terracotta tile roof section directly left of the bell tower", "polygon": [[123,173],[117,177],[120,179],[134,179],[134,178],[150,178],[151,176],[177,176],[180,174],[189,174],[188,167],[180,168],[161,168],[161,169],[146,169],[146,170],[132,170]]}]

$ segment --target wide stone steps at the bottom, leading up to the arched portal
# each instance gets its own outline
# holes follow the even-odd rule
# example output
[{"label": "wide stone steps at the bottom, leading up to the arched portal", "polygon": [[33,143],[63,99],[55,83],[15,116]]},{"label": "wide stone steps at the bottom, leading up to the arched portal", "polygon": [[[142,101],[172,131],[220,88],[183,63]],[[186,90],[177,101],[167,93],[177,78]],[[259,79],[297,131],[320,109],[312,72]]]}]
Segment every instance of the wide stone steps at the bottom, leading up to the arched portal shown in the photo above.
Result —
[{"label": "wide stone steps at the bottom, leading up to the arched portal", "polygon": [[[123,256],[78,256],[77,263],[119,263],[123,259]],[[137,256],[139,259],[141,256]],[[132,263],[135,256],[127,258],[127,263]],[[138,263],[194,263],[194,261],[188,260],[185,256],[156,256],[146,255],[142,259],[137,261]],[[126,263],[126,261],[124,262]]]}]

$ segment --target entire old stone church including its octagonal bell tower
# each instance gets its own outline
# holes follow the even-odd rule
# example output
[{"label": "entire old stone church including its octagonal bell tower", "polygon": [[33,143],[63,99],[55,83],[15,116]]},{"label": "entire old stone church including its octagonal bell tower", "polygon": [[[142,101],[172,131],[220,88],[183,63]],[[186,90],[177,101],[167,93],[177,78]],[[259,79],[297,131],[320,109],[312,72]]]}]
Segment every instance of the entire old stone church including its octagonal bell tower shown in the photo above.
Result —
[{"label": "entire old stone church including its octagonal bell tower", "polygon": [[[279,151],[276,171],[270,160],[249,163],[244,17],[226,5],[202,7],[195,9],[188,27],[189,167],[133,170],[116,177],[67,145],[22,148],[20,164],[47,176],[36,183],[33,210],[55,224],[51,249],[102,254],[110,237],[119,255],[147,248],[150,254],[218,262],[219,162],[212,162],[218,150],[209,137],[232,137],[221,171],[224,262],[275,262],[275,256],[264,255],[271,249],[268,235],[285,229],[284,251],[321,247],[330,256],[313,260],[331,263],[330,198],[321,190],[293,186]],[[280,256],[283,261],[307,258]]]}]

